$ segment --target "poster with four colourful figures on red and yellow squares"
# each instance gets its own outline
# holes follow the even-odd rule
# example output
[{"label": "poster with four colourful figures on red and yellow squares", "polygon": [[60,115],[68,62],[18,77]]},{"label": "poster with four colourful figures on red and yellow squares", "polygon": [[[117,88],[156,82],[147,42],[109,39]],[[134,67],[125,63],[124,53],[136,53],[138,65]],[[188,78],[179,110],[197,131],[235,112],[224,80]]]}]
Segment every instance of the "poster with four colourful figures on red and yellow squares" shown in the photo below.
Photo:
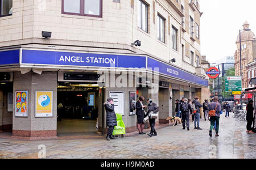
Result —
[{"label": "poster with four colourful figures on red and yellow squares", "polygon": [[28,91],[15,92],[15,117],[28,117],[27,96]]}]

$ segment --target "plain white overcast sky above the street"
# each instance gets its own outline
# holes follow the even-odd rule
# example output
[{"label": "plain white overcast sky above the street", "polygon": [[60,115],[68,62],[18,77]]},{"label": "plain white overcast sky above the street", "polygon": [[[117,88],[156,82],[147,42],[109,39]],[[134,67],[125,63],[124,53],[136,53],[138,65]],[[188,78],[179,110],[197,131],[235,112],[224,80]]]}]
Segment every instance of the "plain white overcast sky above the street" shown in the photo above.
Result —
[{"label": "plain white overcast sky above the street", "polygon": [[239,29],[247,20],[256,35],[255,0],[201,0],[201,55],[209,62],[234,56]]}]

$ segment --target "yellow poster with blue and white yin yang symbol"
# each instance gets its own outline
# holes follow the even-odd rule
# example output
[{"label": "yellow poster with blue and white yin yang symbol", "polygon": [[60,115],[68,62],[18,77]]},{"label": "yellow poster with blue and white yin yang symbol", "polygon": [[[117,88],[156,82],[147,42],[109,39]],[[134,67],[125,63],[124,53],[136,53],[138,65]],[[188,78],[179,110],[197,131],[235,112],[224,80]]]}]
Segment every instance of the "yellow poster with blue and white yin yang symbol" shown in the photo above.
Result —
[{"label": "yellow poster with blue and white yin yang symbol", "polygon": [[36,91],[35,95],[35,117],[53,116],[53,91]]}]

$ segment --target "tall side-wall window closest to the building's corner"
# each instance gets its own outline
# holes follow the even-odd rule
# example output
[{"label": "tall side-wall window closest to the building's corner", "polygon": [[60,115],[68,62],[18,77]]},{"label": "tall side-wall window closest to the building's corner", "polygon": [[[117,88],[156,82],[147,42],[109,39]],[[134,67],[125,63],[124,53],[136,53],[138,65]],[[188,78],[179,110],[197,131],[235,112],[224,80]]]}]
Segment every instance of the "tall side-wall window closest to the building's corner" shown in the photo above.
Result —
[{"label": "tall side-wall window closest to the building's corner", "polygon": [[138,27],[146,32],[148,32],[147,11],[148,5],[146,5],[146,3],[142,2],[141,0],[138,0]]}]

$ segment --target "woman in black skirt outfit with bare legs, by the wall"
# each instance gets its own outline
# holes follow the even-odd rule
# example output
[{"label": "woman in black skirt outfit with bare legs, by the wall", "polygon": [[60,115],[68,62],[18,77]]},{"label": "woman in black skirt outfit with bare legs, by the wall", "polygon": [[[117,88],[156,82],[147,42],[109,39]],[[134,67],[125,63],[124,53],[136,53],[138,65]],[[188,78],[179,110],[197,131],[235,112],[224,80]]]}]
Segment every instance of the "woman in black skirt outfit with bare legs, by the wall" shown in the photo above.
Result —
[{"label": "woman in black skirt outfit with bare legs, by the wall", "polygon": [[143,101],[145,100],[145,98],[143,96],[139,97],[139,100],[136,103],[136,115],[137,115],[137,128],[139,130],[139,134],[146,134],[143,132],[144,130],[144,122],[143,119],[145,117],[145,111],[144,108],[146,108],[146,105],[143,105]]}]

